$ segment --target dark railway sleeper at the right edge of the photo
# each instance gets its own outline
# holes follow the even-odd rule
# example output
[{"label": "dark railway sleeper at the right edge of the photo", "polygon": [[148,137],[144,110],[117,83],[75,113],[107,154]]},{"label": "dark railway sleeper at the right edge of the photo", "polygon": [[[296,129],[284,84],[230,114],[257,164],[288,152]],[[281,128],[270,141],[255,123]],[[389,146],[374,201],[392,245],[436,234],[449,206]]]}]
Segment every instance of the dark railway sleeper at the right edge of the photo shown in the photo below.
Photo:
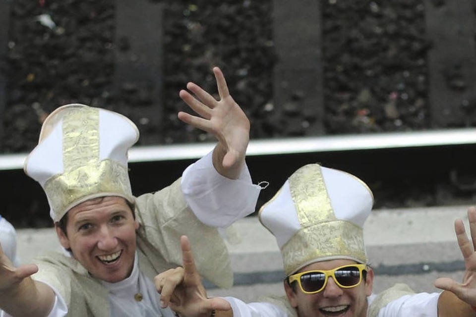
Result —
[{"label": "dark railway sleeper at the right edge of the photo", "polygon": [[431,121],[476,124],[476,15],[473,0],[425,0]]}]

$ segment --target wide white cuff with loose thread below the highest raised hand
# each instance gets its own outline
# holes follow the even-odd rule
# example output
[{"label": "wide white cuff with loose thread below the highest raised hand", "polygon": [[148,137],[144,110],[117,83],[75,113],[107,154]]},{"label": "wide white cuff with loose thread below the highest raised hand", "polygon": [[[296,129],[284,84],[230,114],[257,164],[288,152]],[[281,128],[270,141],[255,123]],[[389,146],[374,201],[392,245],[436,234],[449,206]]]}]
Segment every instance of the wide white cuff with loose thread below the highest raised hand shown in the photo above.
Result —
[{"label": "wide white cuff with loose thread below the highest raised hand", "polygon": [[227,227],[255,210],[261,187],[251,182],[246,164],[238,179],[220,175],[213,166],[212,154],[188,166],[180,185],[188,206],[201,222]]}]

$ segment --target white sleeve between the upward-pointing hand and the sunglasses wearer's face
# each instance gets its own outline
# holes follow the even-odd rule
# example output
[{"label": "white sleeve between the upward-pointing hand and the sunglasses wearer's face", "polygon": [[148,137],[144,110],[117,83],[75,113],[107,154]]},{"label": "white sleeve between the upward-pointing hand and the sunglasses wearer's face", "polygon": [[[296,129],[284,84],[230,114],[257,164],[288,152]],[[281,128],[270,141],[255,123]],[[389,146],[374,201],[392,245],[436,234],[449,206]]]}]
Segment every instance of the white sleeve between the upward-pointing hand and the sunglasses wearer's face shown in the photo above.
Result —
[{"label": "white sleeve between the upward-pointing hand and the sunglasses wearer's face", "polygon": [[278,306],[271,303],[246,304],[234,297],[224,297],[233,310],[233,317],[288,317]]}]

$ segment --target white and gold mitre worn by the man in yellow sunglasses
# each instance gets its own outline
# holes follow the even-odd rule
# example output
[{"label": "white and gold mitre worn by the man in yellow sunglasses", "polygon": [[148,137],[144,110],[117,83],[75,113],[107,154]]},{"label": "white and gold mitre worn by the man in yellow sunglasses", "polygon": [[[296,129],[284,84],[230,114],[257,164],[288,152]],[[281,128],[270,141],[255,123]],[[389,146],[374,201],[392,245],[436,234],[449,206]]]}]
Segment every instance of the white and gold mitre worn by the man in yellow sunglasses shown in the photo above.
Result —
[{"label": "white and gold mitre worn by the man in yellow sunglasses", "polygon": [[320,261],[365,264],[362,226],[372,205],[372,192],[356,176],[308,164],[261,207],[259,219],[276,237],[290,275]]}]

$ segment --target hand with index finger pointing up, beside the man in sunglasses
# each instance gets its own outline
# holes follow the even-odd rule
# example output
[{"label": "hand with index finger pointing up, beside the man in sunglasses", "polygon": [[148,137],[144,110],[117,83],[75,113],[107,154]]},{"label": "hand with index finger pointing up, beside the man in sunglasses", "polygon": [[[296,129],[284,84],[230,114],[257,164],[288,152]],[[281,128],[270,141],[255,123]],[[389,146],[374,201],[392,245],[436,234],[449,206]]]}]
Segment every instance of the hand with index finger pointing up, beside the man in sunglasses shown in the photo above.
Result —
[{"label": "hand with index finger pointing up, beside the man in sunglasses", "polygon": [[231,313],[230,303],[226,300],[207,298],[186,236],[180,237],[180,247],[183,267],[167,270],[154,278],[157,291],[161,294],[161,306],[169,306],[181,317],[210,317],[213,311]]}]

